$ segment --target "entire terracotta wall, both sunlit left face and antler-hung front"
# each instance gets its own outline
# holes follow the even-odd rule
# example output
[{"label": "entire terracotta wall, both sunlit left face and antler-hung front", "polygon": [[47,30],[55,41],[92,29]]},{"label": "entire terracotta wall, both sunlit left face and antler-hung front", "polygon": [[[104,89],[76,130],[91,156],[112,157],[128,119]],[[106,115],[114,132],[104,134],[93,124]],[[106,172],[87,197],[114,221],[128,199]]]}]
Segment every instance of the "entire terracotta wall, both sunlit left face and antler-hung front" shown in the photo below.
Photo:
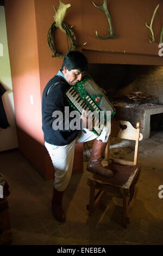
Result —
[{"label": "entire terracotta wall, both sunlit left face and antler-hung front", "polygon": [[[91,0],[63,0],[71,3],[64,21],[73,25],[77,43],[91,63],[128,63],[162,65],[158,56],[158,41],[163,25],[163,2],[158,0],[108,1],[108,9],[116,33],[115,39],[100,40],[108,33],[109,23],[104,13]],[[103,0],[96,0],[102,5]],[[155,43],[149,43],[150,32],[145,22],[151,22],[153,11],[160,3],[153,29]],[[54,22],[59,0],[5,0],[8,45],[15,101],[18,144],[22,152],[45,178],[53,177],[53,166],[43,147],[41,130],[41,97],[48,80],[58,72],[62,59],[52,58],[47,45],[47,33]],[[67,52],[66,35],[55,29],[54,44],[58,52]],[[31,104],[30,97],[33,97]],[[82,147],[79,149],[82,152]],[[78,165],[78,169],[82,166]]]}]

